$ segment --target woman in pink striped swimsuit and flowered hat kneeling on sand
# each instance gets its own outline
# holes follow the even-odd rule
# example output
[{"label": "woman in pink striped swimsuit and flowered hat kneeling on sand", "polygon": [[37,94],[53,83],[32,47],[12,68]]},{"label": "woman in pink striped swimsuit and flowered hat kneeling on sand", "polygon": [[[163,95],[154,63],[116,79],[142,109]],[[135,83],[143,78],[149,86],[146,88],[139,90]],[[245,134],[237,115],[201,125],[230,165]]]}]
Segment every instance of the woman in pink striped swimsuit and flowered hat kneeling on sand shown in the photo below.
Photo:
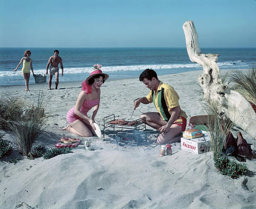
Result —
[{"label": "woman in pink striped swimsuit and flowered hat kneeling on sand", "polygon": [[[102,65],[94,65],[95,69],[82,82],[81,92],[79,93],[75,107],[67,113],[69,123],[65,130],[75,133],[82,137],[93,136],[96,129],[93,125],[96,113],[99,110],[100,87],[108,79],[108,74],[102,73]],[[92,118],[87,116],[88,111],[94,107]]]}]

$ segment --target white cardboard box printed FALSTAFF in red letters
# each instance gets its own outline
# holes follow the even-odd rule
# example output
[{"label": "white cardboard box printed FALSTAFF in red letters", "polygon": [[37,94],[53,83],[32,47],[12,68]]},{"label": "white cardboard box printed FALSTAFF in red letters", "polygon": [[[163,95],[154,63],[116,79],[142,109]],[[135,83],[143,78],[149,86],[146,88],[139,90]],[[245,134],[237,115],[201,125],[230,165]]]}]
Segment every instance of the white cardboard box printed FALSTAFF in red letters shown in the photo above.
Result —
[{"label": "white cardboard box printed FALSTAFF in red letters", "polygon": [[199,138],[181,138],[181,150],[186,150],[190,153],[202,154],[210,150],[211,140],[208,134],[204,134]]}]

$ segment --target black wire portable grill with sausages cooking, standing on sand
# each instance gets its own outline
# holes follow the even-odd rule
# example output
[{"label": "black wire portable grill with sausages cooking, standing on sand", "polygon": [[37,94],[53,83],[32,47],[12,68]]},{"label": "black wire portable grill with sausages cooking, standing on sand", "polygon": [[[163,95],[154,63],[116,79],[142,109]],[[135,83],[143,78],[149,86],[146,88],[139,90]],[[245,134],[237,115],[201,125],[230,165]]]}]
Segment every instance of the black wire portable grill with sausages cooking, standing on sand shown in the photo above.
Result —
[{"label": "black wire portable grill with sausages cooking, standing on sand", "polygon": [[104,129],[103,140],[105,140],[105,134],[113,134],[115,141],[128,142],[133,144],[140,144],[143,141],[147,141],[147,132],[145,118],[135,120],[134,125],[119,125],[111,124],[109,122],[115,121],[114,114],[104,117]]}]

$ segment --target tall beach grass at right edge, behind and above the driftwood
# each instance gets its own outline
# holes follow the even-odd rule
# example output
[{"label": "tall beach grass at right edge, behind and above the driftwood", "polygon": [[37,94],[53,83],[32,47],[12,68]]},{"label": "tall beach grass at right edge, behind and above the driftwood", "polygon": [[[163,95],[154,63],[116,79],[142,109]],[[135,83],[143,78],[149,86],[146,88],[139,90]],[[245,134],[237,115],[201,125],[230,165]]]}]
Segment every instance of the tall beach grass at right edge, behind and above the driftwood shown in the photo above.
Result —
[{"label": "tall beach grass at right edge, behind and above the driftwood", "polygon": [[248,71],[232,71],[230,79],[233,83],[233,90],[256,104],[256,67]]}]

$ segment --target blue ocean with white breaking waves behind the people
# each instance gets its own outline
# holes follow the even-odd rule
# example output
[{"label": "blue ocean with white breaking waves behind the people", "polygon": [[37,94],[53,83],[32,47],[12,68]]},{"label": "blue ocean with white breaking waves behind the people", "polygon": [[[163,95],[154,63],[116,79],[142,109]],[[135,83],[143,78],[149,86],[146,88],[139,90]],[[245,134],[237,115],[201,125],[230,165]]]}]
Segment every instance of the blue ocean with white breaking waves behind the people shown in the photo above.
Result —
[{"label": "blue ocean with white breaking waves behind the people", "polygon": [[[0,85],[24,84],[22,64],[16,73],[13,70],[26,49],[0,48]],[[46,72],[48,59],[55,49],[58,49],[64,66],[64,76],[59,76],[60,83],[82,82],[97,63],[102,65],[102,71],[108,73],[110,79],[139,77],[146,68],[155,70],[158,75],[203,69],[189,60],[186,48],[29,48],[35,73]],[[256,48],[201,48],[201,51],[220,54],[217,62],[220,69],[252,68],[256,64]],[[55,82],[54,76],[52,81]],[[29,83],[35,83],[32,76]]]}]

